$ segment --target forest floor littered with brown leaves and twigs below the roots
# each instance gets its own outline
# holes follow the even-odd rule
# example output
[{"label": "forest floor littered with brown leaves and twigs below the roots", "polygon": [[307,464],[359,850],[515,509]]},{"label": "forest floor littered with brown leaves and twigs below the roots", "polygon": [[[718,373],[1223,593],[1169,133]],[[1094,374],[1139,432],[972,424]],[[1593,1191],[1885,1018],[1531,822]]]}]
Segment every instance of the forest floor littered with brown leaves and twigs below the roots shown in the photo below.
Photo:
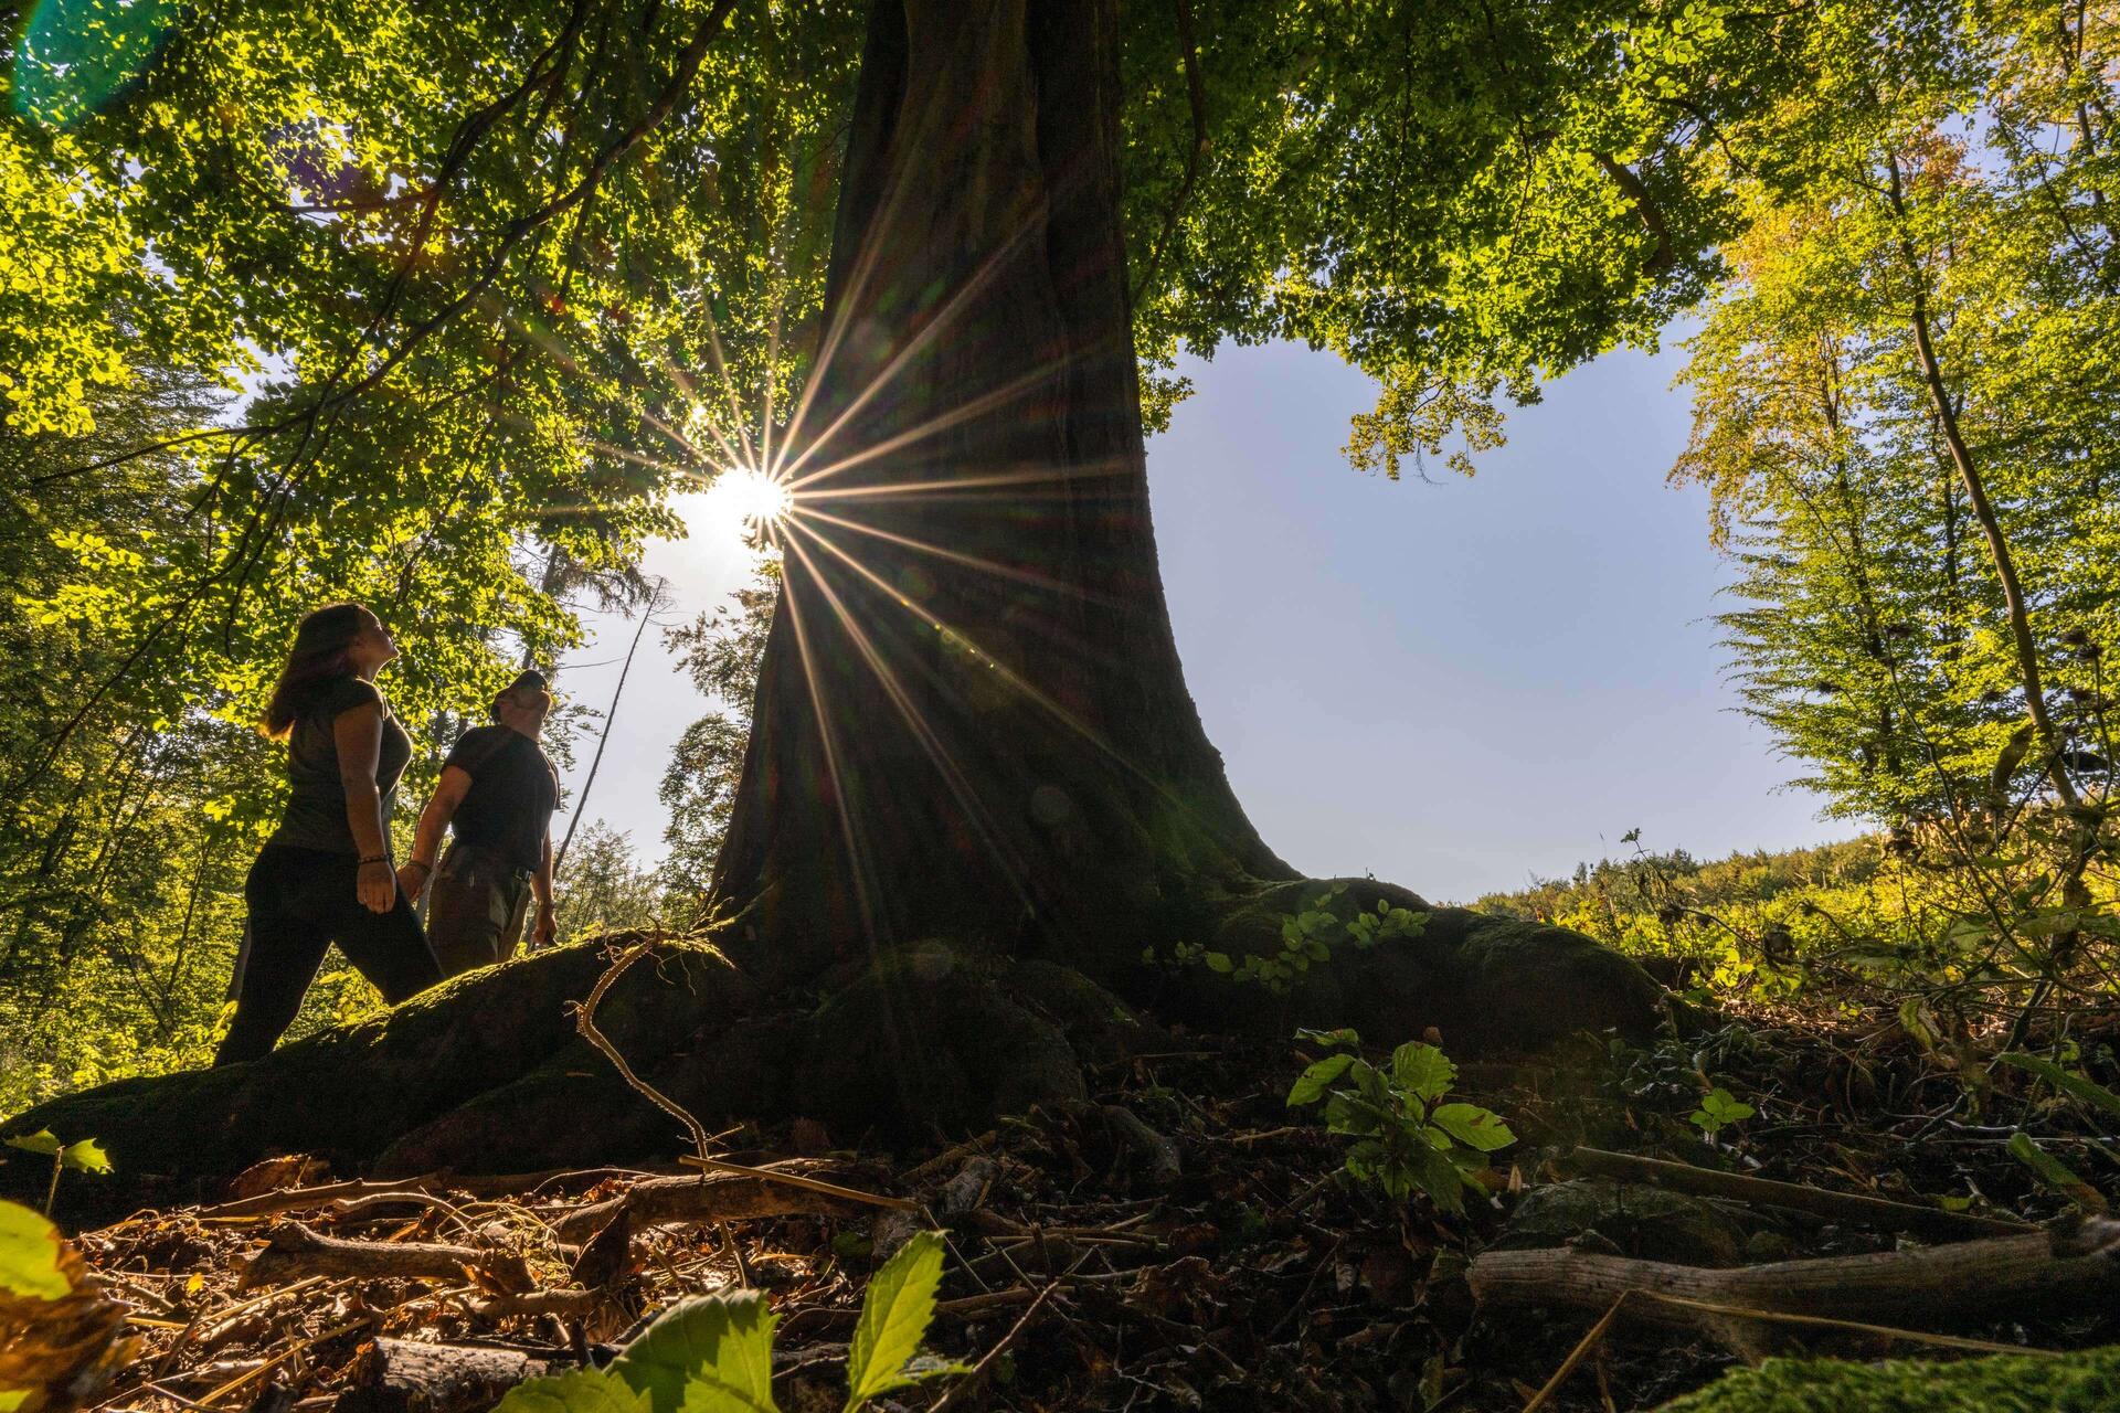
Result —
[{"label": "forest floor littered with brown leaves and twigs below the roots", "polygon": [[[1314,1057],[1297,1042],[1181,1047],[1096,1072],[1088,1102],[926,1152],[840,1150],[808,1121],[725,1135],[742,1150],[721,1161],[765,1176],[672,1165],[360,1184],[263,1165],[220,1205],[78,1235],[138,1339],[98,1407],[483,1409],[509,1381],[608,1358],[676,1296],[744,1286],[778,1313],[780,1405],[837,1407],[867,1275],[935,1222],[950,1256],[926,1347],[984,1360],[950,1407],[1518,1411],[1588,1349],[1543,1407],[1651,1409],[1798,1339],[1849,1358],[1938,1349],[1730,1316],[1624,1316],[1586,1343],[1594,1305],[1482,1307],[1471,1263],[1569,1246],[1747,1267],[1923,1239],[1859,1212],[1584,1182],[1586,1148],[1955,1212],[1936,1224],[1963,1233],[1925,1235],[1942,1241],[1991,1237],[1974,1227],[1982,1216],[2065,1218],[2069,1201],[2010,1152],[2012,1135],[2097,1171],[2084,1135],[2112,1127],[2039,1097],[2029,1076],[1967,1085],[1889,1017],[1734,1015],[1649,1049],[1584,1038],[1535,1061],[1465,1066],[1456,1093],[1499,1112],[1518,1142],[1497,1155],[1495,1191],[1456,1218],[1342,1176],[1346,1140],[1287,1108]],[[1711,1087],[1755,1110],[1717,1142],[1690,1121]],[[2112,1193],[2112,1178],[2095,1182]],[[2073,1349],[2120,1341],[2120,1303],[1910,1324]]]}]

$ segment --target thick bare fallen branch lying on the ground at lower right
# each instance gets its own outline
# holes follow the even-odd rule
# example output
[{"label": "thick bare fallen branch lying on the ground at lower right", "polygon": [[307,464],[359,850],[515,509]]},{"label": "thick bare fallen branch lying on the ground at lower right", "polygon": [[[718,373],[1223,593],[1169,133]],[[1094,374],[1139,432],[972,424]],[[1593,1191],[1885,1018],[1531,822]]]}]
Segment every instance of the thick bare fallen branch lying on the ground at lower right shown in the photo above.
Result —
[{"label": "thick bare fallen branch lying on the ground at lower right", "polygon": [[[1719,1332],[1743,1307],[1779,1316],[1885,1324],[2014,1313],[2035,1303],[2112,1301],[2120,1294],[2120,1222],[2031,1231],[1872,1256],[1781,1260],[1734,1271],[1630,1260],[1577,1250],[1484,1252],[1467,1271],[1484,1309],[1577,1305],[1605,1311],[1628,1292],[1660,1296],[1645,1320]],[[1668,1299],[1662,1299],[1668,1296]]]}]

